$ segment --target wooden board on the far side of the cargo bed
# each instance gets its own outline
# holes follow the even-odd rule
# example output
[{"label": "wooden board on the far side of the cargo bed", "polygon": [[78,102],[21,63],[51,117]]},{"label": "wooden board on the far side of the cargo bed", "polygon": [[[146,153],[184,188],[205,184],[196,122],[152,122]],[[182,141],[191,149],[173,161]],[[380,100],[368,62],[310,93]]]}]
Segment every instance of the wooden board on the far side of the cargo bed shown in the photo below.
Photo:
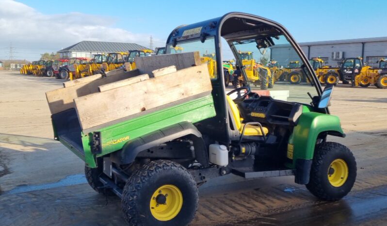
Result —
[{"label": "wooden board on the far side of the cargo bed", "polygon": [[98,86],[123,79],[128,79],[140,74],[139,70],[132,70],[121,74],[108,76],[88,83],[80,83],[66,88],[60,88],[46,93],[48,107],[51,114],[74,108],[74,99],[88,94],[99,92]]}]

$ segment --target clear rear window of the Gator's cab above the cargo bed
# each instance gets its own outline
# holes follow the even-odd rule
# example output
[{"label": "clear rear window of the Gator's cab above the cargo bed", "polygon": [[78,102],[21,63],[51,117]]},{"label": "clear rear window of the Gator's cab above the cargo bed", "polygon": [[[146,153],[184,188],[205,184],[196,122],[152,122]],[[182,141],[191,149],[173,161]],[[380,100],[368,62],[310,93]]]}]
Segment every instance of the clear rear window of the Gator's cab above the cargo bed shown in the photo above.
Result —
[{"label": "clear rear window of the Gator's cab above the cargo bed", "polygon": [[187,42],[178,43],[176,47],[172,47],[172,45],[168,45],[166,48],[167,54],[177,53],[177,51],[178,52],[199,51],[201,63],[208,64],[211,79],[215,80],[217,78],[214,37],[207,37],[204,43],[202,43],[199,39],[195,39]]}]

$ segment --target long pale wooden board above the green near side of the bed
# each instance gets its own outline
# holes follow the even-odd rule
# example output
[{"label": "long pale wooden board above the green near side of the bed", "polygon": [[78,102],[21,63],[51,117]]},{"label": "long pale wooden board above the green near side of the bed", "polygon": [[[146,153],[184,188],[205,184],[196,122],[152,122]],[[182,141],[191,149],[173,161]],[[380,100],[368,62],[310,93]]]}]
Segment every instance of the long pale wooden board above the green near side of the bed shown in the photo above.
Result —
[{"label": "long pale wooden board above the green near side of the bed", "polygon": [[78,97],[74,102],[81,128],[89,129],[210,90],[210,75],[204,64]]}]

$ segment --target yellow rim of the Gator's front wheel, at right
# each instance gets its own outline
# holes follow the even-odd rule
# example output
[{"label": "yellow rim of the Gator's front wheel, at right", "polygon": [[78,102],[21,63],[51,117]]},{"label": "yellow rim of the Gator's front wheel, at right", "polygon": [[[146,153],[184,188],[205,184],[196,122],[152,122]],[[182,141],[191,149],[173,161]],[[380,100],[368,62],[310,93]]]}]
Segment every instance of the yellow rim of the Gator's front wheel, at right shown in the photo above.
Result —
[{"label": "yellow rim of the Gator's front wheel, at right", "polygon": [[332,161],[328,169],[329,183],[333,187],[342,186],[348,178],[348,165],[342,159]]}]

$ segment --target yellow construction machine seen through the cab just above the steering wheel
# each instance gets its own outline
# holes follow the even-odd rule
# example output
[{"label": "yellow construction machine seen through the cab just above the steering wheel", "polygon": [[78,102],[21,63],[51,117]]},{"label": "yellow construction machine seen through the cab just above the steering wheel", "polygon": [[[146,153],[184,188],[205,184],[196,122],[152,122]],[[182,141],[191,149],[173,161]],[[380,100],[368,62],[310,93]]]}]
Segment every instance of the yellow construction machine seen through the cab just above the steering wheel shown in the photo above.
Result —
[{"label": "yellow construction machine seen through the cab just above the steering wheel", "polygon": [[[237,45],[242,44],[243,43]],[[259,86],[263,90],[274,87],[274,76],[272,75],[270,68],[257,62],[253,57],[253,52],[239,51],[239,55],[242,59],[243,69],[246,72],[247,77],[255,86]],[[243,79],[243,77],[241,77],[241,79]],[[241,83],[243,83],[243,81],[241,81]]]}]

